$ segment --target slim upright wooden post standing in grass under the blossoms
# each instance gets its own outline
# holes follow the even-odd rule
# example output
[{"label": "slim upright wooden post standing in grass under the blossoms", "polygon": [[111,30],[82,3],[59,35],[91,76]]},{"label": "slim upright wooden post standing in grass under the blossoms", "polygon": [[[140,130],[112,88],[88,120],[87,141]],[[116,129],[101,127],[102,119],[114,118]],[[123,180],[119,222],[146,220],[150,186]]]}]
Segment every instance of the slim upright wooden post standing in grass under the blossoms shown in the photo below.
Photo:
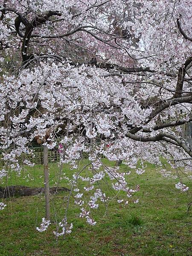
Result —
[{"label": "slim upright wooden post standing in grass under the blossoms", "polygon": [[44,145],[45,218],[50,220],[48,148]]}]

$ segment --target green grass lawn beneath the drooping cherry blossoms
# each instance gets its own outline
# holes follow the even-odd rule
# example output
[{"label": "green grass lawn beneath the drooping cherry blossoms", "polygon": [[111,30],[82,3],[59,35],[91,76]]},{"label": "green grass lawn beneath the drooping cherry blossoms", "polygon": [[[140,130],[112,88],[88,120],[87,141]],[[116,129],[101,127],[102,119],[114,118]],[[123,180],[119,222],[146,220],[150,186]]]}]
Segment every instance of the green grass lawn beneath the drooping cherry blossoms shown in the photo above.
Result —
[{"label": "green grass lawn beneath the drooping cherry blossoms", "polygon": [[[106,160],[104,160],[105,162]],[[80,163],[83,166],[84,160]],[[113,162],[108,163],[113,166]],[[58,167],[50,164],[50,186],[58,180]],[[73,222],[73,232],[58,239],[56,244],[52,231],[55,230],[55,212],[58,221],[64,216],[67,192],[52,196],[52,224],[46,233],[35,228],[44,217],[44,196],[9,198],[3,200],[7,207],[0,212],[0,256],[190,256],[192,255],[192,209],[187,214],[187,203],[191,192],[182,193],[175,189],[179,180],[166,179],[148,165],[143,175],[132,171],[128,176],[131,184],[140,184],[138,204],[130,202],[126,207],[113,200],[105,214],[105,205],[93,210],[96,226],[89,226],[84,219],[77,218],[79,208],[71,200],[68,222]],[[122,165],[121,170],[125,171]],[[72,175],[65,165],[64,172]],[[87,171],[85,171],[87,172]],[[29,175],[26,179],[25,177]],[[26,181],[28,180],[28,181]],[[192,182],[184,178],[185,184]],[[6,181],[1,186],[5,186]],[[43,168],[35,166],[21,172],[20,177],[11,175],[9,185],[43,186]],[[83,186],[84,183],[82,183]],[[60,186],[67,186],[60,180]],[[113,192],[102,183],[102,189],[110,198]],[[131,185],[130,185],[131,187]],[[87,193],[88,195],[88,193]],[[120,192],[118,199],[126,195]],[[54,199],[54,200],[53,200]]]}]

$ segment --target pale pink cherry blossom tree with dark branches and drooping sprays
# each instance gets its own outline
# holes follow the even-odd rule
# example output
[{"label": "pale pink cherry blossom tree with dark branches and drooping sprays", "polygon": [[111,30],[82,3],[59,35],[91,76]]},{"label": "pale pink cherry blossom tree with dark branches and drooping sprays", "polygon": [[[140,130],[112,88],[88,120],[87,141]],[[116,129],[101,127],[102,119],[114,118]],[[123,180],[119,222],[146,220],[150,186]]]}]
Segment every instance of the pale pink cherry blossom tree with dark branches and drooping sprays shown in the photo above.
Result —
[{"label": "pale pink cherry blossom tree with dark branches and drooping sprays", "polygon": [[[32,152],[34,138],[49,149],[63,145],[60,165],[74,174],[66,177],[71,191],[55,236],[73,228],[72,193],[80,217],[96,224],[90,210],[111,200],[97,186],[106,176],[128,197],[118,203],[138,203],[129,172],[105,166],[101,155],[138,175],[146,161],[162,166],[160,157],[191,171],[192,145],[182,137],[192,122],[191,0],[1,0],[0,13],[0,177],[20,174],[18,157]],[[81,152],[92,176],[81,176]],[[78,179],[87,183],[83,191]],[[175,186],[189,189],[182,180]],[[38,231],[49,224],[43,219]]]}]

